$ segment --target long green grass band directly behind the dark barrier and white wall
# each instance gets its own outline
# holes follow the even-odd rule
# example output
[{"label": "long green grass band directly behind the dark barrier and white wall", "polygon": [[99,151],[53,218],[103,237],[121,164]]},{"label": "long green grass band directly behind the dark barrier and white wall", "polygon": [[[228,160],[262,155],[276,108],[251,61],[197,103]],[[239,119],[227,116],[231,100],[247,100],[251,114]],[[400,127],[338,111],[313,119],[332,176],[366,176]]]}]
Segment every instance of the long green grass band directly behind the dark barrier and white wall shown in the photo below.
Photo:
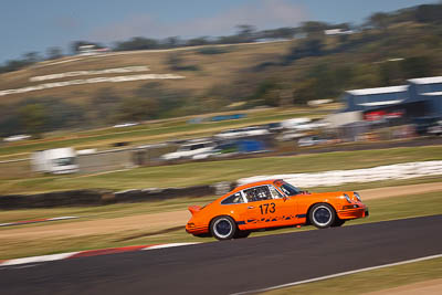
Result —
[{"label": "long green grass band directly behind the dark barrier and white wall", "polygon": [[442,159],[442,148],[440,146],[336,151],[290,157],[189,162],[92,176],[41,176],[27,179],[9,179],[0,181],[0,191],[3,193],[22,193],[81,188],[124,190],[152,187],[188,187],[210,185],[218,181],[234,181],[256,175],[357,169],[440,159]]}]

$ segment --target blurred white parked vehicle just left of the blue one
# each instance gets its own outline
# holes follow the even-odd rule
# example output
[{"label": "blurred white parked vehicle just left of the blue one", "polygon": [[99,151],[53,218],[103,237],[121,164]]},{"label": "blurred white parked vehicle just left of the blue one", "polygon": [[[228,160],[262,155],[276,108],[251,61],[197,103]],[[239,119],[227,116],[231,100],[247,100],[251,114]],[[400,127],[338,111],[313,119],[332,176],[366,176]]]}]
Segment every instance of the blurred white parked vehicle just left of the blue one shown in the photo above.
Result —
[{"label": "blurred white parked vehicle just left of the blue one", "polygon": [[209,157],[215,149],[213,141],[196,141],[182,145],[177,151],[165,154],[162,160],[178,159],[203,159]]}]

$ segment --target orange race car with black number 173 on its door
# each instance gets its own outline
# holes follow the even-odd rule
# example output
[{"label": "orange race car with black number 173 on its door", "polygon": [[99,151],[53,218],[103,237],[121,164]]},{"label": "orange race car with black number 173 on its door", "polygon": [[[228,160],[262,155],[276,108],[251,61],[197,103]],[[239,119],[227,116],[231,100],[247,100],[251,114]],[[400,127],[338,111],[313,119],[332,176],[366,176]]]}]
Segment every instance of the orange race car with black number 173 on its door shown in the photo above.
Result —
[{"label": "orange race car with black number 173 on its door", "polygon": [[218,240],[246,238],[259,229],[313,224],[340,226],[368,217],[368,208],[352,191],[309,193],[282,179],[240,186],[204,207],[191,206],[186,231]]}]

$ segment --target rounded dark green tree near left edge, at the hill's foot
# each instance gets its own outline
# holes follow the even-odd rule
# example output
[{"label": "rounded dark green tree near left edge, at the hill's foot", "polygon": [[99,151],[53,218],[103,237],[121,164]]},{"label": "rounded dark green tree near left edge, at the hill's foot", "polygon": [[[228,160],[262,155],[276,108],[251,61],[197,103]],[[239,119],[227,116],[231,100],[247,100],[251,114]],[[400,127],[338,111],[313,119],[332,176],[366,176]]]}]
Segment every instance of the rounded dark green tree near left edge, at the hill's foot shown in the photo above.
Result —
[{"label": "rounded dark green tree near left edge, at the hill's foot", "polygon": [[38,138],[41,137],[46,122],[46,114],[42,104],[29,104],[20,107],[19,116],[28,134]]}]

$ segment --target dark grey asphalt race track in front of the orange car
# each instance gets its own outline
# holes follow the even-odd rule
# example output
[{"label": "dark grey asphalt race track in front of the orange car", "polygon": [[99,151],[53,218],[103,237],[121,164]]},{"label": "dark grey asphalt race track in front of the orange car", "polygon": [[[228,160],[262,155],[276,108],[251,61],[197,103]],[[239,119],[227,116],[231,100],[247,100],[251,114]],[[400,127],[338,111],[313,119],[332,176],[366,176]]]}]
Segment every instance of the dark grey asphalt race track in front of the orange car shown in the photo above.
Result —
[{"label": "dark grey asphalt race track in front of the orange car", "polygon": [[1,294],[231,294],[442,253],[442,214],[0,268]]}]

